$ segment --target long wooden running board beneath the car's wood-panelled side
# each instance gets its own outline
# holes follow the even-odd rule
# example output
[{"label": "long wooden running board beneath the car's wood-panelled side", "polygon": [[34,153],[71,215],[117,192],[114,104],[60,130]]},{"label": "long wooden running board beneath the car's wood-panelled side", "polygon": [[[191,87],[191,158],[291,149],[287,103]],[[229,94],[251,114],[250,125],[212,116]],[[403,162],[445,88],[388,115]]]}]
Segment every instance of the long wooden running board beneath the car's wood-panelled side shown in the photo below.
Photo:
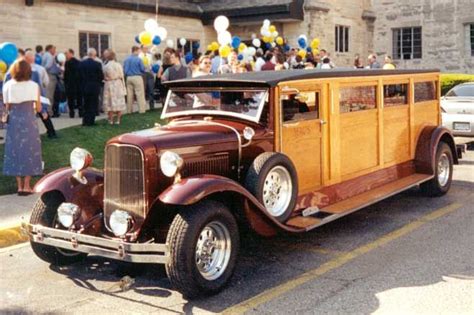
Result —
[{"label": "long wooden running board beneath the car's wood-panelled side", "polygon": [[371,189],[362,194],[353,196],[351,198],[345,199],[338,203],[332,204],[325,208],[319,209],[317,214],[326,214],[324,218],[317,218],[315,216],[295,216],[290,218],[286,225],[291,227],[306,229],[306,231],[312,230],[318,226],[329,223],[340,217],[348,215],[352,212],[355,212],[359,209],[367,207],[371,204],[377,203],[385,198],[396,195],[404,190],[407,190],[411,187],[417,186],[423,182],[426,182],[433,178],[433,175],[427,174],[413,174],[391,183],[385,184],[383,186]]}]

